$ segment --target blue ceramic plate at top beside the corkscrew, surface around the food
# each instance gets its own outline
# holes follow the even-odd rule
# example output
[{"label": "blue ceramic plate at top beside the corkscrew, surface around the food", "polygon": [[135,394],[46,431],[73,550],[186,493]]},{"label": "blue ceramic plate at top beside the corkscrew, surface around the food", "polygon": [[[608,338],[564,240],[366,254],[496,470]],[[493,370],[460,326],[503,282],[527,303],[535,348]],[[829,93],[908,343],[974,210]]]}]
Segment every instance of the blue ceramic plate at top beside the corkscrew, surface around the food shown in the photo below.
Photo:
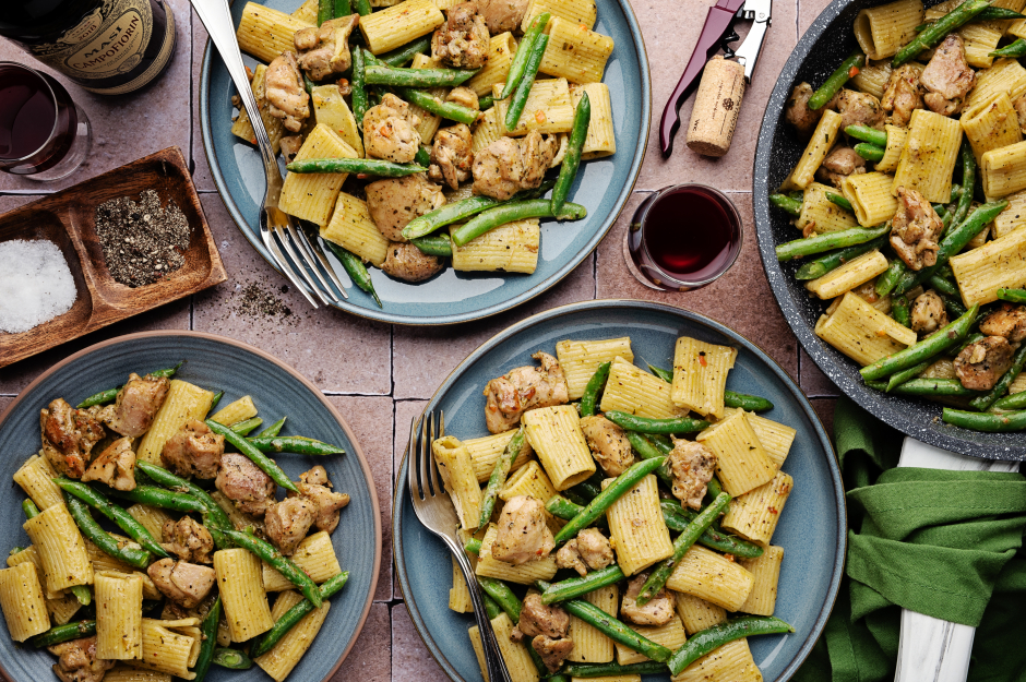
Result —
[{"label": "blue ceramic plate at top beside the corkscrew, surface around the food", "polygon": [[[342,310],[398,324],[452,324],[479,320],[538,296],[569,275],[598,246],[620,215],[637,179],[648,142],[652,94],[644,41],[630,2],[597,2],[595,31],[612,36],[616,41],[604,82],[609,86],[612,104],[617,153],[581,164],[570,198],[584,204],[588,216],[576,223],[546,220],[541,224],[538,268],[532,275],[457,273],[449,267],[428,282],[410,284],[371,268],[383,308],[378,308],[373,299],[350,286],[348,275],[329,253],[329,260],[349,294],[349,300],[339,306]],[[231,8],[236,24],[244,4],[243,0],[237,0]],[[300,0],[267,0],[263,4],[291,12],[299,7]],[[249,57],[243,58],[249,65],[256,63]],[[228,72],[207,45],[200,84],[203,147],[214,182],[231,217],[253,248],[274,265],[260,241],[256,227],[258,210],[264,193],[263,165],[255,147],[231,134],[234,94],[235,86]]]}]

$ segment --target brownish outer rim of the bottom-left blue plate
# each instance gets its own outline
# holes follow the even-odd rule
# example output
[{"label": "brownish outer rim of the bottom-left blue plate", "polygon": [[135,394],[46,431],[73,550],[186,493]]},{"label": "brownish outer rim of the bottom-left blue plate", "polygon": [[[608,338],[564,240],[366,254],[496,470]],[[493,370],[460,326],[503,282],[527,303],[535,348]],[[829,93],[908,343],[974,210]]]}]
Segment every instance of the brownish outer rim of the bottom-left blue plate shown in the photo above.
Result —
[{"label": "brownish outer rim of the bottom-left blue plate", "polygon": [[[371,506],[373,508],[373,518],[374,518],[374,538],[375,538],[374,539],[374,570],[373,570],[373,575],[371,576],[370,589],[367,593],[367,599],[363,602],[363,609],[362,609],[362,612],[360,613],[360,620],[359,620],[359,623],[357,624],[356,630],[353,633],[353,638],[347,644],[345,650],[342,651],[342,654],[338,657],[338,660],[335,661],[335,665],[332,667],[332,669],[322,679],[322,682],[329,682],[332,679],[332,677],[334,677],[334,674],[338,671],[338,668],[342,666],[343,661],[345,661],[345,659],[349,656],[349,654],[353,650],[353,647],[356,645],[357,639],[360,638],[360,634],[363,632],[363,626],[367,624],[367,619],[370,615],[370,610],[371,610],[371,607],[373,606],[374,594],[378,590],[378,578],[380,577],[380,574],[381,574],[381,553],[382,553],[381,508],[378,504],[378,493],[377,493],[378,489],[374,486],[374,478],[370,470],[370,464],[367,462],[367,457],[363,455],[363,448],[360,446],[359,441],[354,435],[353,429],[349,428],[349,423],[346,421],[346,419],[338,412],[337,409],[335,409],[335,406],[333,406],[331,403],[327,402],[327,397],[310,380],[308,380],[306,376],[300,374],[298,371],[296,371],[295,369],[293,369],[291,367],[289,367],[282,360],[266,352],[265,350],[256,348],[255,346],[251,346],[244,342],[240,342],[234,338],[228,338],[226,336],[218,336],[217,334],[210,334],[206,332],[193,332],[191,330],[158,330],[158,331],[152,331],[152,332],[135,332],[134,334],[126,334],[123,336],[117,336],[115,338],[109,338],[107,340],[93,344],[92,346],[83,348],[82,350],[68,356],[63,360],[60,360],[59,362],[48,368],[46,371],[39,374],[36,379],[34,379],[28,385],[22,388],[19,392],[17,396],[11,402],[11,404],[2,412],[0,412],[0,431],[2,431],[4,423],[7,423],[8,417],[11,415],[14,408],[17,407],[17,405],[21,404],[22,400],[25,399],[28,396],[28,394],[36,388],[36,386],[38,386],[45,380],[49,379],[51,375],[64,369],[68,364],[74,362],[75,360],[83,358],[97,350],[100,350],[103,348],[106,348],[108,346],[117,346],[126,342],[143,340],[143,339],[153,338],[153,337],[175,337],[175,336],[189,336],[193,338],[202,338],[206,340],[212,340],[215,343],[224,344],[226,346],[235,346],[236,348],[241,348],[242,350],[251,352],[260,358],[263,358],[264,360],[267,360],[272,362],[273,364],[277,366],[278,368],[285,370],[288,374],[293,376],[293,379],[296,379],[297,381],[299,381],[300,384],[302,384],[308,391],[310,391],[310,393],[312,393],[321,402],[321,405],[323,405],[329,410],[332,418],[338,422],[339,427],[342,427],[342,430],[345,432],[346,438],[349,439],[349,443],[351,443],[353,445],[353,450],[355,452],[346,453],[346,454],[356,455],[357,460],[360,464],[360,468],[363,470],[363,476],[367,480],[368,488],[372,493],[370,495],[370,501],[371,501]],[[8,672],[7,667],[3,665],[2,660],[0,660],[0,677],[2,677],[5,682],[15,682],[14,678],[12,678],[11,674]]]}]

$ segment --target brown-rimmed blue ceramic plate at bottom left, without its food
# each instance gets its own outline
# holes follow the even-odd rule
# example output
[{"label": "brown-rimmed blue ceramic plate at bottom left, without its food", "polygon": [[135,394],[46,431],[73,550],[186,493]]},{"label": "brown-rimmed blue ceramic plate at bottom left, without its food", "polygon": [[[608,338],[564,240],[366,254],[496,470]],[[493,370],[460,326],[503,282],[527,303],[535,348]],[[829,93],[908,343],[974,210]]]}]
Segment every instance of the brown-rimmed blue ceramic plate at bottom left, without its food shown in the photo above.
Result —
[{"label": "brown-rimmed blue ceramic plate at bottom left, without its food", "polygon": [[[289,675],[290,680],[327,680],[349,653],[370,611],[381,563],[381,522],[370,467],[345,420],[320,391],[272,356],[238,342],[191,332],[131,334],[97,344],[50,368],[28,385],[0,417],[0,480],[9,494],[0,498],[0,535],[7,541],[3,555],[14,546],[29,545],[22,530],[21,504],[25,495],[11,481],[14,471],[39,450],[39,409],[53,398],[72,405],[86,396],[124,382],[131,371],[186,364],[177,376],[196,385],[223,390],[223,404],[252,395],[264,420],[288,416],[286,434],[302,434],[341,445],[345,455],[305,457],[282,454],[276,460],[297,479],[314,464],[327,469],[335,490],[347,492],[349,505],[342,512],[332,542],[349,582],[332,597],[331,611],[317,641]],[[55,658],[0,634],[0,674],[9,682],[53,679]],[[210,682],[256,682],[267,675],[256,667],[247,671],[214,666]]]}]

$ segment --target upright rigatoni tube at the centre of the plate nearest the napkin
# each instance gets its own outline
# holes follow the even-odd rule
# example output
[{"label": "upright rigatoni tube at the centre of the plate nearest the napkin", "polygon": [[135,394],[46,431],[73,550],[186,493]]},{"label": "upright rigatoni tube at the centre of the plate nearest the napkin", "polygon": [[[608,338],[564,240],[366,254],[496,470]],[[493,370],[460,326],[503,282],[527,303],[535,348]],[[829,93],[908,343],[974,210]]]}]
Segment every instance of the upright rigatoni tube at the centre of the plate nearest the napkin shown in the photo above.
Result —
[{"label": "upright rigatoni tube at the centre of the plate nearest the napkin", "polygon": [[[613,479],[603,481],[606,489]],[[634,575],[673,554],[670,531],[659,507],[659,487],[654,474],[628,490],[606,512],[609,534],[617,548],[617,563],[624,575]]]}]

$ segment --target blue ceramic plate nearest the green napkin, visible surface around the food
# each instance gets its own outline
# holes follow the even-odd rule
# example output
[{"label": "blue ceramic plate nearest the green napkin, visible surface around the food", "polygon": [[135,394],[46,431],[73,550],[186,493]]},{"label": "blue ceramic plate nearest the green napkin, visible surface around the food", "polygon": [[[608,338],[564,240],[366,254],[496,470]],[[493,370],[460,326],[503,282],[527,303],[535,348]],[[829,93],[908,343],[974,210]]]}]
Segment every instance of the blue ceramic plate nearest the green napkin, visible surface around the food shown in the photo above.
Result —
[{"label": "blue ceramic plate nearest the green napkin, visible surface around the food", "polygon": [[[557,342],[564,338],[630,336],[636,364],[670,368],[673,344],[682,335],[737,348],[728,387],[770,398],[775,407],[766,417],[798,430],[784,463],[784,470],[795,478],[795,491],[773,536],[773,543],[785,548],[775,615],[794,625],[795,634],[749,639],[766,681],[783,682],[809,655],[837,596],[845,555],[844,489],[830,439],[809,400],[757,346],[707,318],[669,306],[575,303],[528,318],[487,342],[445,380],[426,409],[444,410],[448,433],[487,435],[485,384],[514,367],[532,364],[533,352],[554,354]],[[406,464],[404,460],[398,481],[406,480]],[[467,638],[473,615],[449,610],[449,552],[417,521],[405,484],[396,486],[393,507],[395,565],[417,631],[453,680],[480,682]],[[648,682],[667,679],[646,677]]]}]

